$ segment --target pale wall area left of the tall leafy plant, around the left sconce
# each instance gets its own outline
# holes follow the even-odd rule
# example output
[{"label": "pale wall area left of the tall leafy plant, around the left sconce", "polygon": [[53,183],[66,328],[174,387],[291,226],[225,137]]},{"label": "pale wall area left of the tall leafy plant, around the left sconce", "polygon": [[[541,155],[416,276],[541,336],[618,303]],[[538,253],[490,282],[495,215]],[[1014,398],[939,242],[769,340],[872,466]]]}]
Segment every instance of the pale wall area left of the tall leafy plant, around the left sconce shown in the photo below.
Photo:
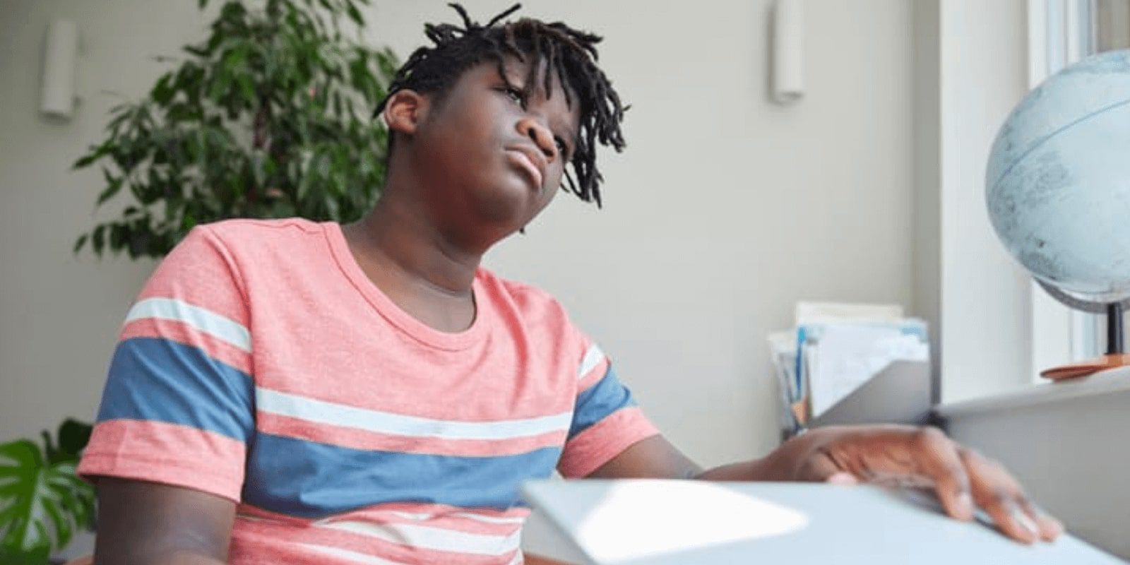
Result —
[{"label": "pale wall area left of the tall leafy plant, around the left sconce", "polygon": [[[99,140],[120,95],[148,90],[160,64],[203,29],[195,2],[5,0],[0,5],[0,438],[92,419],[118,329],[151,263],[88,257],[71,245],[93,227],[101,173],[69,172]],[[78,23],[82,96],[70,122],[38,115],[44,35]]]}]

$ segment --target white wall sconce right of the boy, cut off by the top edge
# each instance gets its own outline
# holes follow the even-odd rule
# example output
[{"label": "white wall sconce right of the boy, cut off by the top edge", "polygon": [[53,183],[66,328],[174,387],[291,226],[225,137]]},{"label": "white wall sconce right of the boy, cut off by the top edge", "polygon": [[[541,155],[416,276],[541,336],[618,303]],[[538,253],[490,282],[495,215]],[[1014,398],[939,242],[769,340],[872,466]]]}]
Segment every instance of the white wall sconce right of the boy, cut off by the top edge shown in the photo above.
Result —
[{"label": "white wall sconce right of the boy, cut off by the top edge", "polygon": [[805,96],[803,0],[776,0],[773,6],[770,93],[777,104]]}]

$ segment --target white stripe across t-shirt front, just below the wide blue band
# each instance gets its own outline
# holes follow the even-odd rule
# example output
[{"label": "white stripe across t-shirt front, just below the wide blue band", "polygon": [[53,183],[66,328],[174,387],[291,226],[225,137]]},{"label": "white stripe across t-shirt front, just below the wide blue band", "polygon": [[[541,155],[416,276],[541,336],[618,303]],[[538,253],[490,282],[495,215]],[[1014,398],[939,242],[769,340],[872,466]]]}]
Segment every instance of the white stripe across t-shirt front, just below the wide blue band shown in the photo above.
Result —
[{"label": "white stripe across t-shirt front, just below the wide blue band", "polygon": [[520,529],[508,536],[487,536],[416,524],[319,521],[312,525],[376,538],[402,546],[473,555],[506,555],[518,550],[522,539],[522,531]]}]

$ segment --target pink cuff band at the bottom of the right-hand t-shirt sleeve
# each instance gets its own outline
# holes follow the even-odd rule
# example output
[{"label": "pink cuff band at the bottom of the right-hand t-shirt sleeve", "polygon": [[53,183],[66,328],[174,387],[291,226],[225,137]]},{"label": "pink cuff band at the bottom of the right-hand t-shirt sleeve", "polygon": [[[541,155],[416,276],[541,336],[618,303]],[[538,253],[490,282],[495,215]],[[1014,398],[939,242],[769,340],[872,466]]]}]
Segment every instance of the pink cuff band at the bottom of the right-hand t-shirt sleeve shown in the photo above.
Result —
[{"label": "pink cuff band at the bottom of the right-hand t-shirt sleeve", "polygon": [[659,429],[640,407],[621,408],[566,443],[557,470],[570,479],[586,477],[636,442],[654,435]]}]

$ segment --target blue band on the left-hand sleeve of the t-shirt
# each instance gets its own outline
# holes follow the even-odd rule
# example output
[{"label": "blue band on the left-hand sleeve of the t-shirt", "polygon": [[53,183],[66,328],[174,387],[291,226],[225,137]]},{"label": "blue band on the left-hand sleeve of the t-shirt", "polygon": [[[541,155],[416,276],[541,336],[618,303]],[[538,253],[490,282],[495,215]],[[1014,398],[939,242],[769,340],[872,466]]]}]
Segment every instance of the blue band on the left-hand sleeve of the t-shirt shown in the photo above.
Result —
[{"label": "blue band on the left-hand sleeve of the t-shirt", "polygon": [[251,377],[197,347],[160,338],[118,345],[98,421],[181,424],[246,442],[254,428]]}]

